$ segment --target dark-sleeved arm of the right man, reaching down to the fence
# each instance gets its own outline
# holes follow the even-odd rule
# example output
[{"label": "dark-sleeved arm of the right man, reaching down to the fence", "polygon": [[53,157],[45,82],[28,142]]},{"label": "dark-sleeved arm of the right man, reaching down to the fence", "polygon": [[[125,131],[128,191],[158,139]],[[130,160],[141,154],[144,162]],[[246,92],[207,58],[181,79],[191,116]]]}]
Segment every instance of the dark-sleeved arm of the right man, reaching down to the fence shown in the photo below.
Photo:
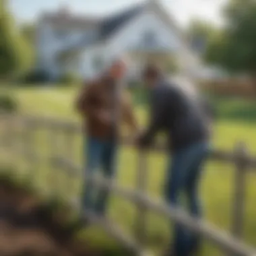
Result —
[{"label": "dark-sleeved arm of the right man, reaching down to the fence", "polygon": [[164,112],[166,111],[166,101],[164,96],[162,91],[154,92],[152,95],[150,125],[148,126],[148,129],[146,129],[146,132],[139,137],[140,146],[148,146],[152,142],[154,135],[156,135],[158,130],[162,127]]}]

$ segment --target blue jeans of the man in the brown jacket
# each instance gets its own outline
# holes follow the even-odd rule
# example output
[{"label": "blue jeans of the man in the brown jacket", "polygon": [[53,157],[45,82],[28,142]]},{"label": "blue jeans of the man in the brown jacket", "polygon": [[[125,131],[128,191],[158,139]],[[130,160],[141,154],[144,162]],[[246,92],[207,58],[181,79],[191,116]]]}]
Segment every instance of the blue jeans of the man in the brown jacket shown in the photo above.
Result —
[{"label": "blue jeans of the man in the brown jacket", "polygon": [[[100,140],[94,137],[86,139],[86,174],[94,174],[99,168],[105,178],[115,174],[115,153],[117,143],[112,139]],[[93,210],[98,214],[106,212],[109,191],[98,189],[90,181],[85,181],[82,195],[83,209]]]}]

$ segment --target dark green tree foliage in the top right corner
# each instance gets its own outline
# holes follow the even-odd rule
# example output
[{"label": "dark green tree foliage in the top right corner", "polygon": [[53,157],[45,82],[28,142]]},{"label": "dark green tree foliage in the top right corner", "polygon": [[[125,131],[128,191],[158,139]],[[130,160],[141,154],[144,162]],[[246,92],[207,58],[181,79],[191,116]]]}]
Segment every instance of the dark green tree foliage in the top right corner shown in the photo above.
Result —
[{"label": "dark green tree foliage in the top right corner", "polygon": [[229,71],[256,75],[256,1],[230,0],[226,26],[207,46],[205,60]]}]

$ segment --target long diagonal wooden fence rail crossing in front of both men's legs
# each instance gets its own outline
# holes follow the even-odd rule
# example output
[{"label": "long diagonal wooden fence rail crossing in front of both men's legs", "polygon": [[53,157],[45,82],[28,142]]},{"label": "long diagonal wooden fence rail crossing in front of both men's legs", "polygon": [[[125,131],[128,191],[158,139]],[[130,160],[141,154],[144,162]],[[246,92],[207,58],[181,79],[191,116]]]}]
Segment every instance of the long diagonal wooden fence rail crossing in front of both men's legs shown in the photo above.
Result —
[{"label": "long diagonal wooden fence rail crossing in front of both men's legs", "polygon": [[[81,170],[81,167],[75,166],[73,163],[68,162],[68,160],[61,160],[59,161],[59,164],[63,165],[63,168]],[[232,253],[231,255],[256,255],[256,250],[253,247],[245,245],[238,239],[228,235],[227,232],[220,231],[218,228],[215,228],[206,222],[189,216],[183,210],[179,210],[171,205],[166,205],[158,199],[152,199],[152,197],[149,197],[140,191],[125,189],[112,180],[95,176],[88,176],[87,179],[99,187],[105,187],[106,189],[113,191],[113,193],[119,197],[124,197],[138,205],[144,205],[148,210],[157,212],[166,218],[170,218],[170,220],[173,220],[174,222],[186,226],[193,232],[202,234],[205,239],[218,245],[220,249],[223,249],[227,253]]]}]

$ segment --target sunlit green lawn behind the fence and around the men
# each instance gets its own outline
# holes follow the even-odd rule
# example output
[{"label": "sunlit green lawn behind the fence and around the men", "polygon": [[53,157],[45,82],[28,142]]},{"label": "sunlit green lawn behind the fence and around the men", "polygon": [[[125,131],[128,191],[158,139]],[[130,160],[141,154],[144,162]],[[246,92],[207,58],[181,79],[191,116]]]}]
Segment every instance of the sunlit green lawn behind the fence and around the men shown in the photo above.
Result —
[{"label": "sunlit green lawn behind the fence and around the men", "polygon": [[[22,113],[39,116],[53,116],[78,121],[73,100],[77,92],[67,88],[22,88],[13,90],[13,95],[18,99]],[[135,96],[135,112],[140,123],[146,121],[146,110],[141,102],[140,94]],[[244,141],[251,154],[256,154],[256,103],[239,99],[212,98],[217,108],[217,120],[214,129],[214,147],[222,150],[234,150],[237,141]],[[46,137],[40,137],[38,145],[42,145]],[[81,139],[76,144],[77,161],[81,161]],[[40,149],[41,150],[41,149]],[[41,150],[42,151],[42,150]],[[79,158],[80,156],[80,158]],[[125,187],[135,186],[137,154],[131,148],[121,147],[119,154],[119,168],[117,179]],[[164,172],[166,169],[166,156],[150,154],[148,157],[148,193],[154,197],[162,196],[164,185]],[[45,167],[46,168],[46,167]],[[40,167],[42,169],[42,166]],[[220,228],[230,230],[234,166],[219,162],[208,162],[201,183],[201,195],[205,207],[205,218]],[[40,176],[41,177],[41,176]],[[41,181],[40,181],[41,182]],[[245,201],[245,240],[251,245],[256,245],[256,174],[247,176],[247,195]],[[42,185],[44,186],[44,185]],[[126,230],[132,232],[134,225],[135,209],[129,202],[118,197],[113,197],[110,207],[110,218],[121,224]],[[169,225],[166,220],[156,214],[148,216],[148,244],[152,249],[159,249],[168,243]],[[106,236],[92,228],[84,234],[93,241],[100,241],[106,245],[113,245]],[[216,250],[210,245],[205,245],[203,255],[216,256]]]}]

